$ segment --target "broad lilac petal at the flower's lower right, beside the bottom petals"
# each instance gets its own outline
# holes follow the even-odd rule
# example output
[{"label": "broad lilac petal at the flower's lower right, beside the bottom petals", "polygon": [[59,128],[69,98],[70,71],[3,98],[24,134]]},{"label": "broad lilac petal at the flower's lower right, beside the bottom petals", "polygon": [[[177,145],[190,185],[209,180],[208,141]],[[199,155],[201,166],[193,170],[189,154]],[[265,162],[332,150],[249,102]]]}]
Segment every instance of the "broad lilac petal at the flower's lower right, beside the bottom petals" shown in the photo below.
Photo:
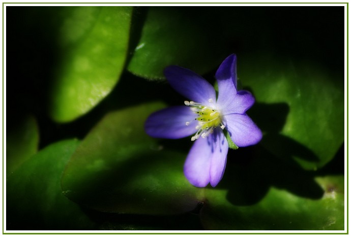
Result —
[{"label": "broad lilac petal at the flower's lower right, beside the bottom petals", "polygon": [[247,114],[228,114],[224,119],[229,136],[238,147],[255,145],[262,139],[261,130]]}]

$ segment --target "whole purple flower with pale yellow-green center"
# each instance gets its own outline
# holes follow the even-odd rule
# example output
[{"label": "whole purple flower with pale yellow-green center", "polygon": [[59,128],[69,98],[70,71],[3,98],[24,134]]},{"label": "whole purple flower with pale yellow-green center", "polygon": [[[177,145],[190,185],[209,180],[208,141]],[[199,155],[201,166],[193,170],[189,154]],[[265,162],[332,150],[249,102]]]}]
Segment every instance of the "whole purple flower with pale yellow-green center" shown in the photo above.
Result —
[{"label": "whole purple flower with pale yellow-green center", "polygon": [[184,174],[196,187],[215,187],[222,179],[228,153],[223,130],[238,147],[258,143],[262,133],[245,113],[254,103],[246,90],[237,91],[237,56],[227,57],[216,72],[218,97],[214,87],[201,76],[180,66],[164,70],[169,84],[189,98],[185,106],[153,113],[145,131],[154,138],[180,139],[193,134],[194,141],[184,164]]}]

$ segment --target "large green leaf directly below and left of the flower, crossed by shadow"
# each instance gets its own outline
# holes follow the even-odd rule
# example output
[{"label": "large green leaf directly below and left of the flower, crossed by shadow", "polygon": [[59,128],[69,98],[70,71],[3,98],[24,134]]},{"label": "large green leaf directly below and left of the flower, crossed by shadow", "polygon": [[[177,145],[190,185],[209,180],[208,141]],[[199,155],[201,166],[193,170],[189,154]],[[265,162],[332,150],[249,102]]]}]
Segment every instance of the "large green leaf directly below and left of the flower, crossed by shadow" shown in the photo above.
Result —
[{"label": "large green leaf directly below and left of the flower, crossed by shadow", "polygon": [[183,175],[186,154],[163,149],[143,128],[160,103],[108,113],[85,137],[62,179],[65,195],[104,212],[179,214],[198,204]]}]

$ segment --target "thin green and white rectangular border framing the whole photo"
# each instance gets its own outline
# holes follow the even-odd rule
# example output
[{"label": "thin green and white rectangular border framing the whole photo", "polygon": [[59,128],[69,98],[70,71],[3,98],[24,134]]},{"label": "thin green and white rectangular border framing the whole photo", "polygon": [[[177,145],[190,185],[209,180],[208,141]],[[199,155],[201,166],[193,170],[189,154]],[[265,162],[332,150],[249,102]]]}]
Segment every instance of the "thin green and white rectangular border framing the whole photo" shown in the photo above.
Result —
[{"label": "thin green and white rectangular border framing the whole photo", "polygon": [[[295,3],[262,3],[262,2],[258,2],[258,3],[189,3],[189,2],[180,2],[180,3],[169,3],[169,2],[163,2],[163,3],[142,3],[142,2],[136,2],[136,3],[130,3],[130,2],[123,2],[123,3],[8,3],[8,2],[3,2],[3,234],[348,234],[348,208],[346,209],[346,232],[320,232],[320,233],[310,233],[310,232],[264,232],[264,233],[259,233],[259,232],[30,232],[30,233],[24,233],[24,232],[13,232],[13,233],[9,233],[9,232],[4,232],[4,7],[6,7],[6,4],[11,4],[11,5],[16,5],[16,4],[25,4],[25,5],[30,5],[30,4],[201,4],[201,5],[208,5],[208,4],[259,4],[259,5],[264,5],[264,4],[333,4],[333,5],[337,5],[337,4],[342,4],[342,5],[346,5],[344,7],[346,7],[346,119],[347,119],[347,124],[346,124],[346,168],[347,168],[347,172],[346,172],[346,203],[347,203],[347,207],[348,207],[348,2],[337,2],[337,3],[299,3],[299,2],[295,2]],[[16,231],[16,230],[14,230]],[[25,231],[25,230],[24,230]],[[79,231],[79,230],[78,230]],[[118,231],[118,230],[115,230]],[[142,230],[141,230],[142,231]],[[224,230],[226,231],[226,230]],[[313,230],[312,230],[313,231]],[[342,230],[341,230],[342,231]]]}]

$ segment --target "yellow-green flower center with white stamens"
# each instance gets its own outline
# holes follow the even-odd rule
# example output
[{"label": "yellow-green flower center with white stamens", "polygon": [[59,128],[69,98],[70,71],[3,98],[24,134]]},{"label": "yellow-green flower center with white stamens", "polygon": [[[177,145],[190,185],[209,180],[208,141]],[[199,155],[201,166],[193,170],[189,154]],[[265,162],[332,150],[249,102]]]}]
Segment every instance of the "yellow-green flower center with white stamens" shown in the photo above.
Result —
[{"label": "yellow-green flower center with white stamens", "polygon": [[[212,102],[213,99],[209,99],[209,102]],[[195,135],[191,138],[191,141],[195,141],[199,137],[206,138],[209,136],[209,134],[213,133],[213,130],[220,126],[222,129],[224,129],[224,125],[222,123],[221,119],[221,113],[213,109],[209,106],[203,106],[201,104],[195,103],[194,101],[184,101],[184,104],[186,106],[191,106],[191,110],[197,114],[197,120],[198,125],[195,127],[197,132]],[[191,121],[192,122],[192,121]],[[191,122],[186,122],[185,125],[189,125]]]}]

